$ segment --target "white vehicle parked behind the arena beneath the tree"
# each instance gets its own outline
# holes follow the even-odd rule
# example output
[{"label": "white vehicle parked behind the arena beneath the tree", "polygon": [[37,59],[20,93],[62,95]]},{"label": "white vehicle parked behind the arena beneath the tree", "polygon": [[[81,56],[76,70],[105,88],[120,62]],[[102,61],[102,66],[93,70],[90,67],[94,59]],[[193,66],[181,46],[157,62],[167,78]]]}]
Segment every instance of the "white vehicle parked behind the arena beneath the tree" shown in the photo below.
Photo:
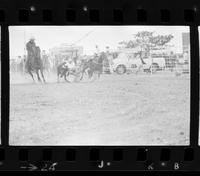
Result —
[{"label": "white vehicle parked behind the arena beneath the tree", "polygon": [[[141,59],[136,54],[120,53],[113,60],[113,71],[117,74],[137,71],[141,66],[144,72],[156,72],[159,69],[165,68],[164,58],[143,58],[145,64],[142,64]],[[151,64],[152,63],[152,64]]]}]

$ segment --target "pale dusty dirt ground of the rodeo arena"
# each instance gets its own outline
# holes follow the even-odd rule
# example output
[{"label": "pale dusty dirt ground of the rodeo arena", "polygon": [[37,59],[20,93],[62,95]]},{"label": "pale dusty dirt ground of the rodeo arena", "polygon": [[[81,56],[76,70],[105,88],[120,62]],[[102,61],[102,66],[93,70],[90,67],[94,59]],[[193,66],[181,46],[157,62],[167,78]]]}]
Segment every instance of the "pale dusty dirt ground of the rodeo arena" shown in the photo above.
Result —
[{"label": "pale dusty dirt ground of the rodeo arena", "polygon": [[10,74],[11,145],[188,145],[189,75],[32,83]]}]

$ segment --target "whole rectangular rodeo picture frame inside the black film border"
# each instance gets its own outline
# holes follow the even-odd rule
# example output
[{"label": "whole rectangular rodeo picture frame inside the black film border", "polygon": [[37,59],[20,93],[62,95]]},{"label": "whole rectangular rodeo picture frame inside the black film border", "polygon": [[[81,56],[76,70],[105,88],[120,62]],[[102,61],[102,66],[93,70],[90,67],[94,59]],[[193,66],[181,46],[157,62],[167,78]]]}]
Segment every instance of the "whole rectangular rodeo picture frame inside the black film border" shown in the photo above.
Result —
[{"label": "whole rectangular rodeo picture frame inside the black film border", "polygon": [[189,145],[187,26],[9,26],[9,145]]}]

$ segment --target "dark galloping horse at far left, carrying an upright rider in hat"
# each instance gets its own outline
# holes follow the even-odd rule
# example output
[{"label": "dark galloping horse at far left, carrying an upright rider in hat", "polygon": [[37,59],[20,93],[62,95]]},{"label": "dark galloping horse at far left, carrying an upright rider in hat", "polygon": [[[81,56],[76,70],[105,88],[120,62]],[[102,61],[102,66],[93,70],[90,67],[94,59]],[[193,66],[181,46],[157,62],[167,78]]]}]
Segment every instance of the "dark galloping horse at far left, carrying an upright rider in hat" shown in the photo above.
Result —
[{"label": "dark galloping horse at far left, carrying an upright rider in hat", "polygon": [[35,71],[37,74],[38,81],[41,82],[41,79],[39,76],[39,71],[40,71],[43,82],[46,82],[44,78],[44,74],[43,74],[43,63],[40,56],[40,48],[36,47],[34,51],[35,52],[28,54],[27,61],[26,61],[27,72],[31,75],[33,81],[35,82],[33,74],[32,74],[32,72]]}]

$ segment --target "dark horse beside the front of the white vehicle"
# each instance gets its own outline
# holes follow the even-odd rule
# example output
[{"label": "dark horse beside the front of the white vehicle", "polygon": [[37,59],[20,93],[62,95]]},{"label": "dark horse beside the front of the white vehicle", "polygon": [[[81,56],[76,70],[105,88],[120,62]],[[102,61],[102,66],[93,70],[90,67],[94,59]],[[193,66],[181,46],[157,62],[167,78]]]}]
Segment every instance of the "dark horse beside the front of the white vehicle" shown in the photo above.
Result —
[{"label": "dark horse beside the front of the white vehicle", "polygon": [[103,73],[103,61],[107,59],[107,56],[104,52],[100,54],[100,56],[96,56],[93,59],[90,59],[89,61],[86,61],[82,64],[82,76],[80,80],[83,79],[84,73],[88,73],[88,78],[91,79],[94,73],[97,73],[98,79],[100,78],[100,75]]}]

